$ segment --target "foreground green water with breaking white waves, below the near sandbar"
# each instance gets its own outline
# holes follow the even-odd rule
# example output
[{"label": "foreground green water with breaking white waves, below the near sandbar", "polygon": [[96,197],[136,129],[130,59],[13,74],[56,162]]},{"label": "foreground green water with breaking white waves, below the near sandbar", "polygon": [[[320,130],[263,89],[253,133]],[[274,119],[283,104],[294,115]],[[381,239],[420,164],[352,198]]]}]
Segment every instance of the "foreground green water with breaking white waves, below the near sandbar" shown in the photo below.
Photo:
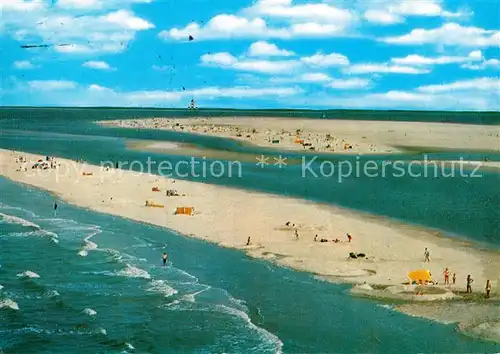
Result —
[{"label": "foreground green water with breaking white waves, below the near sandbar", "polygon": [[239,251],[66,204],[54,215],[51,195],[4,179],[0,195],[5,353],[500,349]]}]

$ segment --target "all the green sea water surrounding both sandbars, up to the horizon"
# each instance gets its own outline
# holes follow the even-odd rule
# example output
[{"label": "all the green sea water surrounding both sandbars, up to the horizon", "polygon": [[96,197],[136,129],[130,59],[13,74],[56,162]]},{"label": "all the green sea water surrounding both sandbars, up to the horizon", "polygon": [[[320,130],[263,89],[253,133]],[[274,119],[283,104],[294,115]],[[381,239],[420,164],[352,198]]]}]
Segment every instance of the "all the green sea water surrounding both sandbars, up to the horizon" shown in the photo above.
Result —
[{"label": "all the green sea water surrounding both sandbars, up to the horizon", "polygon": [[[96,120],[143,117],[292,116],[498,125],[495,113],[0,109],[0,148],[102,161],[173,163],[189,156],[129,148],[174,141],[241,154],[275,151],[190,134],[109,128]],[[464,143],[466,146],[466,142]],[[500,161],[493,152],[412,151],[370,157]],[[280,152],[290,159],[296,153]],[[322,156],[363,161],[366,157]],[[154,170],[152,173],[157,173]],[[296,196],[434,228],[443,237],[500,248],[500,174],[304,177],[300,166],[241,176],[181,179]],[[409,317],[349,295],[348,285],[251,259],[243,252],[58,201],[0,178],[0,352],[3,353],[495,353],[500,345],[454,324]],[[420,250],[416,250],[419,252]],[[166,267],[161,255],[168,252]]]}]

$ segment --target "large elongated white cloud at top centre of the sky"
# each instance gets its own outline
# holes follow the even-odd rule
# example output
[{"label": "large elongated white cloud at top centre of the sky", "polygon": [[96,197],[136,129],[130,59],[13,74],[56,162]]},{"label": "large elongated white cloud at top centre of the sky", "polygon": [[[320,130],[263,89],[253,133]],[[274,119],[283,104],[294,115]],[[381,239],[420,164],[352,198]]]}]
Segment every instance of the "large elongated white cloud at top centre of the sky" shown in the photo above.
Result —
[{"label": "large elongated white cloud at top centre of the sky", "polygon": [[[238,14],[218,14],[204,26],[192,22],[160,32],[165,40],[236,38],[332,37],[343,34],[355,20],[348,10],[325,2],[294,4],[291,0],[257,0]],[[269,26],[268,22],[276,22]]]}]

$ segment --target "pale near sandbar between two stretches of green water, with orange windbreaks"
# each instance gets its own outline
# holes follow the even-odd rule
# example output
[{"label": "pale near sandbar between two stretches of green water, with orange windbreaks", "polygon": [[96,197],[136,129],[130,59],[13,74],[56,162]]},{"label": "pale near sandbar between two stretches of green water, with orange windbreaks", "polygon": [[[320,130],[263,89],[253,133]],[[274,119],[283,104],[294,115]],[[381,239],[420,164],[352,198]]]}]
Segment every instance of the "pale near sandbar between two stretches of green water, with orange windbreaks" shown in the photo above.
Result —
[{"label": "pale near sandbar between two stretches of green water, with orange windbreaks", "polygon": [[[16,162],[19,156],[27,162]],[[436,231],[301,199],[106,170],[65,159],[57,159],[61,164],[57,169],[31,169],[44,158],[0,149],[0,173],[81,207],[167,227],[330,281],[398,285],[407,280],[410,270],[427,268],[440,280],[443,269],[449,267],[457,274],[461,289],[467,274],[472,274],[477,287],[492,279],[493,288],[498,289],[499,252],[478,250]],[[166,190],[176,190],[181,196],[166,196]],[[165,207],[146,207],[146,200]],[[194,207],[195,214],[174,215],[177,207]],[[292,227],[285,226],[287,221],[297,225],[299,239]],[[351,243],[346,233],[353,236]],[[315,235],[341,242],[315,242]],[[249,237],[251,245],[247,246]],[[430,264],[423,263],[425,247],[431,252]],[[349,259],[350,252],[367,257]]]}]

